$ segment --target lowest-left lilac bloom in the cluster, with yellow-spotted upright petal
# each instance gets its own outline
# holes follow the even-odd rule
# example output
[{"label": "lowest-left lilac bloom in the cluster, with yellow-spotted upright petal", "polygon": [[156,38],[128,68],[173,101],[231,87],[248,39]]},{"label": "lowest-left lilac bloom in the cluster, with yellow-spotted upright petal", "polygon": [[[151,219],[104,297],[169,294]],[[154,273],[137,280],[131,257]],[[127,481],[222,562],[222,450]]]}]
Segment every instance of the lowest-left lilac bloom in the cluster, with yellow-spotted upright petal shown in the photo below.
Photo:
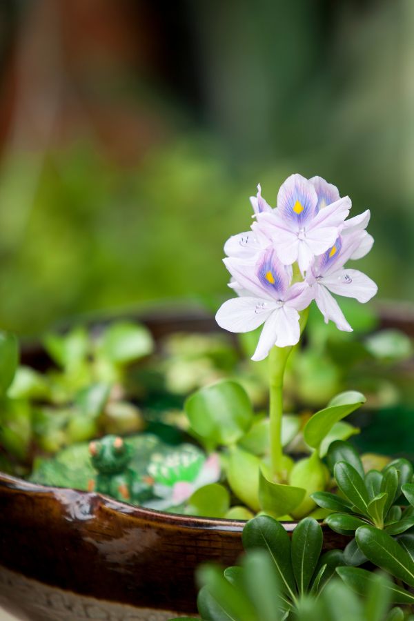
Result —
[{"label": "lowest-left lilac bloom in the cluster, with yellow-spotted upright petal", "polygon": [[279,261],[273,248],[265,250],[257,261],[229,257],[224,263],[244,295],[219,308],[219,326],[230,332],[250,332],[264,324],[253,360],[264,359],[273,345],[295,345],[300,336],[298,311],[306,308],[313,296],[308,283],[290,286],[293,270]]}]

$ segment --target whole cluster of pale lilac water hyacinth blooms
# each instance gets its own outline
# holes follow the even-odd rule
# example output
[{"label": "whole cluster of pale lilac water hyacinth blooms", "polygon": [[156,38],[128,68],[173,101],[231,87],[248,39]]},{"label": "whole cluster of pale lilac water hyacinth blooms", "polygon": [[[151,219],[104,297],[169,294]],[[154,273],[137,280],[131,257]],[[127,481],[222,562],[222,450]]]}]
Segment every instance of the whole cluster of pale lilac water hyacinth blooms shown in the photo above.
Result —
[{"label": "whole cluster of pale lilac water hyacinth blooms", "polygon": [[253,360],[274,345],[299,341],[299,311],[315,302],[339,330],[352,331],[331,293],[368,302],[377,286],[362,272],[345,268],[373,246],[366,232],[370,211],[351,219],[351,199],[322,177],[290,175],[271,208],[257,186],[250,201],[251,230],[230,237],[224,246],[229,286],[239,297],[219,308],[216,320],[230,332],[249,332],[264,324]]}]

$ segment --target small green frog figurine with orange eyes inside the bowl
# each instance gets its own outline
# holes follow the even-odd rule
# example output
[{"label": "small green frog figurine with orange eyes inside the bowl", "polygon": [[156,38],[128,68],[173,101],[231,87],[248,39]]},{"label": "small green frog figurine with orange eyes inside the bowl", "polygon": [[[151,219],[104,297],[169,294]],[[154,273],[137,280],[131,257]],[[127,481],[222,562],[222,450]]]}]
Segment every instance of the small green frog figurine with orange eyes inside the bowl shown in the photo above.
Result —
[{"label": "small green frog figurine with orange eyes inside the bowl", "polygon": [[116,435],[106,435],[90,442],[89,452],[92,466],[97,470],[96,480],[89,482],[89,491],[133,504],[152,497],[152,478],[139,477],[130,468],[133,450],[128,442]]}]

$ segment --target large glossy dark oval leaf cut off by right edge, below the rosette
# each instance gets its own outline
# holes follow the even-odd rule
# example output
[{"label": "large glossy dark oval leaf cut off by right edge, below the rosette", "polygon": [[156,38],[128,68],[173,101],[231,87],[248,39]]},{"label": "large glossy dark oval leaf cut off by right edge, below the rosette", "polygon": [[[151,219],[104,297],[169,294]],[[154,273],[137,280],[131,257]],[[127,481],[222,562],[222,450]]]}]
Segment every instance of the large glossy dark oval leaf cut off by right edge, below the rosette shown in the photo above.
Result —
[{"label": "large glossy dark oval leaf cut off by right edge, below the rosette", "polygon": [[414,562],[390,535],[373,526],[361,526],[355,537],[366,558],[395,578],[414,586]]}]

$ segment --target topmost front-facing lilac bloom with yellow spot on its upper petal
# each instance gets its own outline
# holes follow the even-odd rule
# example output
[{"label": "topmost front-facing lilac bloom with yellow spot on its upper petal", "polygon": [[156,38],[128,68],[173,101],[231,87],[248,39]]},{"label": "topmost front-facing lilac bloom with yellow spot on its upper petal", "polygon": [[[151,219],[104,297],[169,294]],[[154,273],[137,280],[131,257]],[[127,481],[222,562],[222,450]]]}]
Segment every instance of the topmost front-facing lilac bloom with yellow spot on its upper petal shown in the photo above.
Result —
[{"label": "topmost front-facing lilac bloom with yellow spot on its upper petal", "polygon": [[326,182],[324,192],[330,191],[326,196],[321,191],[318,198],[316,188],[322,186],[319,179],[314,177],[311,183],[302,175],[290,175],[279,189],[277,209],[257,214],[259,227],[272,239],[280,261],[285,265],[297,261],[302,274],[313,257],[333,246],[351,209],[349,197],[326,204],[329,195],[336,197],[333,190],[326,188]]}]

